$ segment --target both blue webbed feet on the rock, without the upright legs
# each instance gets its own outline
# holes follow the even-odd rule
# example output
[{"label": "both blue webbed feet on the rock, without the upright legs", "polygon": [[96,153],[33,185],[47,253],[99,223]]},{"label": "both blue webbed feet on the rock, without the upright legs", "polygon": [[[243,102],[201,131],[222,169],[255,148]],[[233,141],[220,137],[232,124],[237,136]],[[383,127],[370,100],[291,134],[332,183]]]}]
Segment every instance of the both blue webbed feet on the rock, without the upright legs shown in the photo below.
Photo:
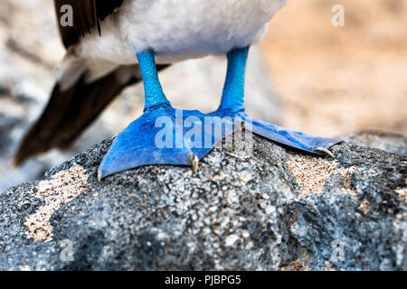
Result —
[{"label": "both blue webbed feet on the rock, without the upright legs", "polygon": [[150,164],[190,165],[196,172],[199,161],[240,129],[241,122],[256,135],[312,154],[327,154],[330,146],[340,142],[271,125],[244,112],[221,109],[205,115],[197,110],[157,107],[116,137],[99,166],[99,179]]}]

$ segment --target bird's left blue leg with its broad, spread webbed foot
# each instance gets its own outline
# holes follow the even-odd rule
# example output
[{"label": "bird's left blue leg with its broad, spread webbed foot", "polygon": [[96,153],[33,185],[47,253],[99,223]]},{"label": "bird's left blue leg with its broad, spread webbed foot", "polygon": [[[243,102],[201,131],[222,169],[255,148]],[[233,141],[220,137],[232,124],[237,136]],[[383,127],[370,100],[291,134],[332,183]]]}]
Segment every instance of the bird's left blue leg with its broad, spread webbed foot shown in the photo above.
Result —
[{"label": "bird's left blue leg with its broad, spread webbed foot", "polygon": [[147,164],[191,165],[208,154],[232,125],[197,110],[171,107],[156,71],[153,51],[137,54],[143,77],[144,114],[119,134],[99,166],[99,180]]}]

